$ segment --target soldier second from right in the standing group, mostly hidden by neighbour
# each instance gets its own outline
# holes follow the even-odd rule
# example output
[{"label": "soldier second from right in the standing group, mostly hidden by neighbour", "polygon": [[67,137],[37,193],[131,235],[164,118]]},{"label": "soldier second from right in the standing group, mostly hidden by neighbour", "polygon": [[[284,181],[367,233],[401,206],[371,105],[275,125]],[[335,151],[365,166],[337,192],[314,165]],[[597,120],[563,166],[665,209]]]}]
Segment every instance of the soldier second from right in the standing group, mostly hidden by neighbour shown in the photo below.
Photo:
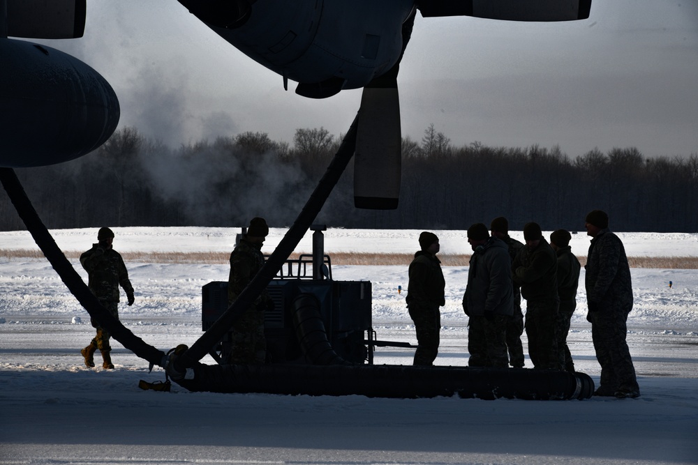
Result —
[{"label": "soldier second from right in the standing group, mostly hidden by neighbour", "polygon": [[558,296],[560,297],[560,311],[556,328],[558,341],[558,358],[560,367],[567,372],[574,373],[572,353],[567,346],[567,334],[570,333],[570,321],[577,308],[577,285],[579,284],[579,270],[581,265],[570,247],[572,234],[565,229],[557,229],[550,235],[550,247],[558,256]]}]

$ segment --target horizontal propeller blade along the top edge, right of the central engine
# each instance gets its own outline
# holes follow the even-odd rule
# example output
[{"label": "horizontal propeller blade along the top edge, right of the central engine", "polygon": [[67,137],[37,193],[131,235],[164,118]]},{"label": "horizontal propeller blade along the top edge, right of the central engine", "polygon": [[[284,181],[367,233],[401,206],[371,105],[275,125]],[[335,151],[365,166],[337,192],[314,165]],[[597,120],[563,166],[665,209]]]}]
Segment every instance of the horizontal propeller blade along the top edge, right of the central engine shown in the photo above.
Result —
[{"label": "horizontal propeller blade along the top edge, right of the central engine", "polygon": [[422,0],[423,17],[472,16],[505,21],[586,20],[591,0]]}]

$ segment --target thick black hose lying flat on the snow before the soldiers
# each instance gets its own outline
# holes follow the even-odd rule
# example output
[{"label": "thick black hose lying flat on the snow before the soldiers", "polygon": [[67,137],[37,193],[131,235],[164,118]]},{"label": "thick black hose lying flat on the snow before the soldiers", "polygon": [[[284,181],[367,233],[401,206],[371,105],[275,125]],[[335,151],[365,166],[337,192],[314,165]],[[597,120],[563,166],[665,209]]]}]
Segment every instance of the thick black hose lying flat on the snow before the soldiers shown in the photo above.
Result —
[{"label": "thick black hose lying flat on the snow before the soldiers", "polygon": [[191,391],[283,395],[365,395],[418,398],[588,399],[587,374],[523,368],[415,367],[411,365],[203,365],[193,379],[173,379]]}]

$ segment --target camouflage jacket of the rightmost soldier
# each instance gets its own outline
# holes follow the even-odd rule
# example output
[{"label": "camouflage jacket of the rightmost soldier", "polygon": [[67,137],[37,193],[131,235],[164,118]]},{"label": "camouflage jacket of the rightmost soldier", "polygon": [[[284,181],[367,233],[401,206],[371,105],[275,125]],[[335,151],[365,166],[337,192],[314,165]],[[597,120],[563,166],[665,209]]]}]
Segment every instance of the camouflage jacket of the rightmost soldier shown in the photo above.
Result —
[{"label": "camouflage jacket of the rightmost soldier", "polygon": [[602,229],[589,245],[586,259],[586,298],[591,303],[609,305],[632,303],[630,266],[621,239],[610,229]]}]

